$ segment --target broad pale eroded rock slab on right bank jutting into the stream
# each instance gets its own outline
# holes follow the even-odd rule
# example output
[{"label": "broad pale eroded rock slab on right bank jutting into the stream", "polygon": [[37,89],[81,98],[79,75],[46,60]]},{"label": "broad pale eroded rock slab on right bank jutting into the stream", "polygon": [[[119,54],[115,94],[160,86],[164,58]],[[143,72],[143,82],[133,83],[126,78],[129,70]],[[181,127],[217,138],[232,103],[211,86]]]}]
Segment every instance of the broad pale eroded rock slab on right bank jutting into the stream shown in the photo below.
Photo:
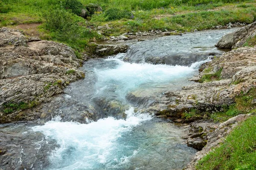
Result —
[{"label": "broad pale eroded rock slab on right bank jutting into the stream", "polygon": [[[202,71],[198,81],[206,74],[214,74],[220,70],[221,80],[195,83],[178,91],[168,91],[151,106],[148,111],[169,118],[180,118],[189,108],[201,111],[220,111],[219,106],[234,103],[241,92],[246,93],[256,87],[256,47],[243,47],[216,57],[206,64],[209,73]],[[214,77],[213,77],[214,78]],[[214,80],[214,79],[213,79]]]}]

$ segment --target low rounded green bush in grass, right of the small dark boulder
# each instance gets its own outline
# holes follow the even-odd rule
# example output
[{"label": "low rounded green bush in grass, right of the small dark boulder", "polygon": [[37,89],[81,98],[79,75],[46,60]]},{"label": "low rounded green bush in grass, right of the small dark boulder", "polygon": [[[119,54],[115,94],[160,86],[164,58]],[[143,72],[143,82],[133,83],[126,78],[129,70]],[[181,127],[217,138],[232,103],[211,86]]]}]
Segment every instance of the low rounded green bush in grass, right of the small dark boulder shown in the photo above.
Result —
[{"label": "low rounded green bush in grass, right of the small dark boulder", "polygon": [[117,8],[110,8],[105,11],[105,17],[107,21],[119,20],[122,18],[131,18],[132,13],[127,10],[120,10]]}]

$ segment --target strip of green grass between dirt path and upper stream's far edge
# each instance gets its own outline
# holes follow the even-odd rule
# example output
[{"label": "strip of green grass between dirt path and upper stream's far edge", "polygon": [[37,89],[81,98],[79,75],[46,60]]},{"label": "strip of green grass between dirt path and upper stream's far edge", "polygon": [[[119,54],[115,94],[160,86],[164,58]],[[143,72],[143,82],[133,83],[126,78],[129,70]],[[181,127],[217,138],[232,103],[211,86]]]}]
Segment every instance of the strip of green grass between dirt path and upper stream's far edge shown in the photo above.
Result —
[{"label": "strip of green grass between dirt path and upper stream's far edge", "polygon": [[[169,10],[169,11],[168,11]],[[163,12],[163,14],[161,14]],[[238,8],[220,11],[194,11],[192,13],[176,14],[169,9],[153,9],[151,11],[135,11],[134,19],[122,19],[106,22],[104,14],[94,14],[91,22],[96,26],[108,25],[111,30],[103,30],[104,35],[116,35],[125,32],[151,31],[194,31],[209,29],[212,26],[226,25],[228,23],[253,23],[256,19],[256,7]],[[157,16],[161,16],[157,18]]]}]

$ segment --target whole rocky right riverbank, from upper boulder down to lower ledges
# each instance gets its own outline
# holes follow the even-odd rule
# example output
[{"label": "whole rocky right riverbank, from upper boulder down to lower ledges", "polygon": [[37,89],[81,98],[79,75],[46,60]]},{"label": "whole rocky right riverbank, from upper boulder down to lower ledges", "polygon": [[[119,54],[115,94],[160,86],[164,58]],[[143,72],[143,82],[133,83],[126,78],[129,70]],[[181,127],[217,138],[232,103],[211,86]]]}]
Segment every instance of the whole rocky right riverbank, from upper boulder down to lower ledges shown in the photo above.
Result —
[{"label": "whole rocky right riverbank, from upper boulder down to lower ledges", "polygon": [[[249,116],[239,115],[220,124],[213,122],[209,114],[223,111],[223,106],[238,101],[237,96],[256,88],[256,46],[243,47],[248,37],[255,35],[255,26],[253,23],[221,38],[216,46],[236,49],[202,65],[199,76],[191,79],[200,83],[165,92],[148,108],[148,111],[157,112],[158,117],[192,122],[185,138],[189,146],[201,151],[185,169],[195,169],[198,160],[218,146],[238,122]],[[255,98],[248,101],[248,105],[255,106]]]}]

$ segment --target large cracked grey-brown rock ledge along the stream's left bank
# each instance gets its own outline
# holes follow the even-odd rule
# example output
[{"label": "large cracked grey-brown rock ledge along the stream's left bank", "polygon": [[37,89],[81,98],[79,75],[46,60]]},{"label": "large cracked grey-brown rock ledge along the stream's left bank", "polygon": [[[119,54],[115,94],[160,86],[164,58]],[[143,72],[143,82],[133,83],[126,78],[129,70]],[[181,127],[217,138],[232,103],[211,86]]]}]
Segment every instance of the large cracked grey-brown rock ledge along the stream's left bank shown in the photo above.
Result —
[{"label": "large cracked grey-brown rock ledge along the stream's left bank", "polygon": [[0,123],[33,120],[29,110],[84,78],[78,59],[67,45],[26,37],[22,31],[0,28]]}]

